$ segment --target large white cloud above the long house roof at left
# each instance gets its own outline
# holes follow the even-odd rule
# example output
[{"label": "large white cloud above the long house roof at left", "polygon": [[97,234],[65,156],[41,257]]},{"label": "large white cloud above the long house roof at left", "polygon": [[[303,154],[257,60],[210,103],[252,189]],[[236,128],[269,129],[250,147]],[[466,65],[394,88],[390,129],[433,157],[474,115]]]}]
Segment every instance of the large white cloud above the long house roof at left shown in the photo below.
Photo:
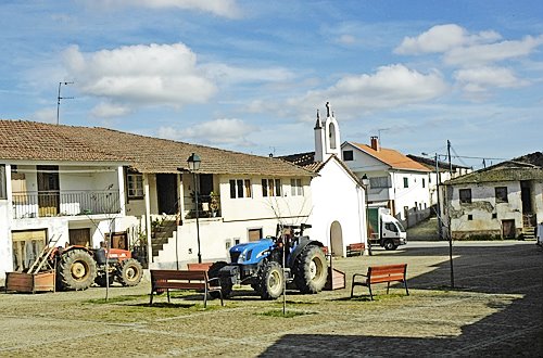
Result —
[{"label": "large white cloud above the long house roof at left", "polygon": [[204,103],[215,85],[197,65],[195,54],[182,43],[127,46],[83,53],[73,46],[64,63],[84,94],[108,98],[123,105]]}]

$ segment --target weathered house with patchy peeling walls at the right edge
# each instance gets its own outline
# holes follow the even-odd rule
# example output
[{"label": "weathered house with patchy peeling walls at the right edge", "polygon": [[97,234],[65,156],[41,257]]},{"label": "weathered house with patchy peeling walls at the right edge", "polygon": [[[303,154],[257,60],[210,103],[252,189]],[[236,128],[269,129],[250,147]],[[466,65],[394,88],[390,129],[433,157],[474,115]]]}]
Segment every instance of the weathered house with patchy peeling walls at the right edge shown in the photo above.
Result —
[{"label": "weathered house with patchy peeling walls at the right edge", "polygon": [[[543,153],[532,153],[445,182],[453,239],[534,239],[543,222]],[[447,225],[447,222],[445,222]]]}]

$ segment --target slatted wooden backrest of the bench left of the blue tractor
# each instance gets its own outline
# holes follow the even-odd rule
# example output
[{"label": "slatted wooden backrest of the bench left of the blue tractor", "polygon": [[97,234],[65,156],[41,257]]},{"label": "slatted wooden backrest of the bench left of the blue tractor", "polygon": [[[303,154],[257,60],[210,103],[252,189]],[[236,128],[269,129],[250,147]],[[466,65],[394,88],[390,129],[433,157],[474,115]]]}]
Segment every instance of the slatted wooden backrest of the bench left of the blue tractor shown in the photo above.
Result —
[{"label": "slatted wooden backrest of the bench left of the blue tractor", "polygon": [[151,284],[155,289],[201,290],[207,285],[205,270],[151,270]]}]

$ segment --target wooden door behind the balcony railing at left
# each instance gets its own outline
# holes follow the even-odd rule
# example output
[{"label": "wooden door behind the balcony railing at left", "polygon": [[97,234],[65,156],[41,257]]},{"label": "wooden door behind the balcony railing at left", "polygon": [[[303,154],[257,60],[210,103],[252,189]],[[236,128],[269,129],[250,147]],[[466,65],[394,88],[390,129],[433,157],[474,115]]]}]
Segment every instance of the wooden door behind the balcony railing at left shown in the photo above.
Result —
[{"label": "wooden door behind the balcony railing at left", "polygon": [[59,167],[38,165],[38,215],[56,216],[60,213]]}]

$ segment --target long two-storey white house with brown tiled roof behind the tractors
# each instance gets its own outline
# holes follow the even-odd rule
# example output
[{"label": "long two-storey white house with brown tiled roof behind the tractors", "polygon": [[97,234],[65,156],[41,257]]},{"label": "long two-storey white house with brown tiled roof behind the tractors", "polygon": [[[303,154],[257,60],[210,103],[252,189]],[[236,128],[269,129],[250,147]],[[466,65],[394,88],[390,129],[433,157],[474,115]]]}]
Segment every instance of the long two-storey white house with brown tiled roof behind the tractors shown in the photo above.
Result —
[{"label": "long two-storey white house with brown tiled roof behind the tractors", "polygon": [[150,247],[150,267],[182,268],[312,209],[314,174],[278,158],[21,120],[0,120],[0,282],[56,239],[98,247],[112,231],[113,247]]}]

